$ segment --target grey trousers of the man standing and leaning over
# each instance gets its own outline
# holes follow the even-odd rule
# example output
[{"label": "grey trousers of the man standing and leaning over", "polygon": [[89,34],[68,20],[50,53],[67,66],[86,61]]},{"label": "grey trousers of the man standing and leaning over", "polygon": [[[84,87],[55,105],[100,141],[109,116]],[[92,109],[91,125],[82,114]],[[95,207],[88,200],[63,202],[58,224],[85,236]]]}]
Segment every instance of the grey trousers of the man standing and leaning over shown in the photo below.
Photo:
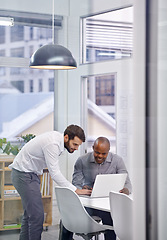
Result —
[{"label": "grey trousers of the man standing and leaning over", "polygon": [[12,182],[21,196],[24,215],[20,240],[41,240],[44,209],[40,193],[40,179],[34,173],[12,169]]}]

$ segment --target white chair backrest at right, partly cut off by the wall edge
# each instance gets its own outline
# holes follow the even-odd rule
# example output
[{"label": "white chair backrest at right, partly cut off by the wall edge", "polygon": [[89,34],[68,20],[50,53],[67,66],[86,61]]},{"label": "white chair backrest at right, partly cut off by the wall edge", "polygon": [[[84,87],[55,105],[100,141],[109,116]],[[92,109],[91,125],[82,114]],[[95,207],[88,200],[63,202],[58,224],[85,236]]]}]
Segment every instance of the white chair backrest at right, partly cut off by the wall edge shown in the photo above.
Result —
[{"label": "white chair backrest at right, partly cut off by the wall edge", "polygon": [[120,240],[133,240],[133,200],[126,194],[110,192],[113,227]]}]

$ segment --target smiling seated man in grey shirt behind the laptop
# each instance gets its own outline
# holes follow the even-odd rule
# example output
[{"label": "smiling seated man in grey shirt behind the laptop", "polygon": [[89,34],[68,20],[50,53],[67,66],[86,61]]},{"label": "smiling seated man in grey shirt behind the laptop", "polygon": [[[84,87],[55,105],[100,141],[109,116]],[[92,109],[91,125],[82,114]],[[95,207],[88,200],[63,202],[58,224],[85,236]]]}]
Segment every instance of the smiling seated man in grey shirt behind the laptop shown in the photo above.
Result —
[{"label": "smiling seated man in grey shirt behind the laptop", "polygon": [[[78,158],[74,166],[72,183],[80,189],[92,189],[96,175],[98,174],[116,174],[128,173],[123,162],[123,159],[116,154],[109,152],[110,142],[105,137],[99,137],[95,140],[93,145],[93,152],[87,153]],[[129,195],[132,191],[132,185],[127,176],[121,193]],[[111,215],[109,212],[104,212],[92,208],[86,208],[91,216],[99,216],[103,224],[113,225]],[[62,225],[60,229],[59,239],[70,240],[73,233],[66,230]],[[114,231],[106,231],[105,240],[115,240],[116,235]]]}]

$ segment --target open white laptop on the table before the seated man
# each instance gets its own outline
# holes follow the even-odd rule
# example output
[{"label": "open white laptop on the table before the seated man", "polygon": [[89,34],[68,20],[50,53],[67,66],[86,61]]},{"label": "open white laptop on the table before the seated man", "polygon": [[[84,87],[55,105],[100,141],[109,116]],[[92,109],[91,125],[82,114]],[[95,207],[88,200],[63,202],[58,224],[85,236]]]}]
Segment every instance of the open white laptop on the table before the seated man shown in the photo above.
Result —
[{"label": "open white laptop on the table before the seated man", "polygon": [[125,185],[127,173],[99,174],[96,176],[91,196],[81,197],[109,197],[109,192],[119,192]]}]

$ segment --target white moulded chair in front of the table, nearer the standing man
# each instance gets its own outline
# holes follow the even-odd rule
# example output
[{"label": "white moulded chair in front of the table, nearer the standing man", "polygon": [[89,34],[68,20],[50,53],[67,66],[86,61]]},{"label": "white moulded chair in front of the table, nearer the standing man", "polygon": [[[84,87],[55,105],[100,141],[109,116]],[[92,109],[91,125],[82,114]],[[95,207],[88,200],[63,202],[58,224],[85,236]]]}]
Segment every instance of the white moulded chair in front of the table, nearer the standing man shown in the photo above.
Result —
[{"label": "white moulded chair in front of the table, nearer the standing man", "polygon": [[85,210],[79,196],[66,187],[55,187],[56,200],[64,227],[89,240],[105,230],[113,230],[112,226],[96,222]]}]

